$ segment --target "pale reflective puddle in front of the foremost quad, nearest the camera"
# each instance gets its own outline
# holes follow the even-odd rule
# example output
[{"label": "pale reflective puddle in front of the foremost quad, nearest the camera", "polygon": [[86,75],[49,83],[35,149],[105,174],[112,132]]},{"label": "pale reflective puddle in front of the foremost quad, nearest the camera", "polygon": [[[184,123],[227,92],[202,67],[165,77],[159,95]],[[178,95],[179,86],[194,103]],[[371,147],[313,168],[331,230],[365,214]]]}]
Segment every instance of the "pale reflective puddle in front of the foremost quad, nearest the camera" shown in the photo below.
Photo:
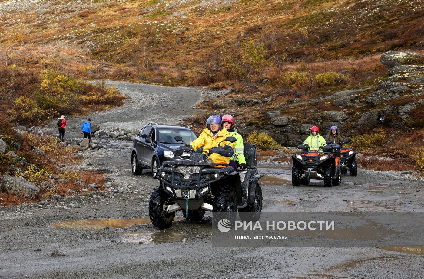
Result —
[{"label": "pale reflective puddle in front of the foremost quad, nearest the camera", "polygon": [[175,242],[187,238],[187,236],[177,232],[123,232],[120,233],[117,241],[122,243],[166,243]]}]

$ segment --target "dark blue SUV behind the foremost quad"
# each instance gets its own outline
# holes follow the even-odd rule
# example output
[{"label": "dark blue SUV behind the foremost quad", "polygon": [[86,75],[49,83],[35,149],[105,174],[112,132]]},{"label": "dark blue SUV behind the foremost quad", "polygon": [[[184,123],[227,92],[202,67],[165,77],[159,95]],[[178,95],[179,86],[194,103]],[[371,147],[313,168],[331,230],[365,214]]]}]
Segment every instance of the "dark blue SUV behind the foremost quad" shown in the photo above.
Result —
[{"label": "dark blue SUV behind the foremost quad", "polygon": [[156,178],[157,169],[163,161],[186,161],[190,154],[174,157],[172,151],[183,143],[175,141],[178,135],[187,144],[194,141],[198,136],[185,124],[159,125],[148,123],[134,139],[131,152],[131,169],[134,175],[142,173],[143,169],[151,169],[153,178]]}]

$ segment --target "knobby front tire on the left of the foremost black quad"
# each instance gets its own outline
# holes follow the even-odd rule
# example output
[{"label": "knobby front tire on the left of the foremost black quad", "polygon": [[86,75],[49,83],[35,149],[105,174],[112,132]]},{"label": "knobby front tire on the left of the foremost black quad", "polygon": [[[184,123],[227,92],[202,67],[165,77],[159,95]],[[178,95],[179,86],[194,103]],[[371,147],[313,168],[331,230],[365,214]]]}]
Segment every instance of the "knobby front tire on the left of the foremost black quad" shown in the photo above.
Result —
[{"label": "knobby front tire on the left of the foremost black quad", "polygon": [[175,217],[175,213],[166,214],[165,204],[170,199],[160,186],[154,188],[149,202],[149,217],[153,226],[158,229],[169,228]]}]

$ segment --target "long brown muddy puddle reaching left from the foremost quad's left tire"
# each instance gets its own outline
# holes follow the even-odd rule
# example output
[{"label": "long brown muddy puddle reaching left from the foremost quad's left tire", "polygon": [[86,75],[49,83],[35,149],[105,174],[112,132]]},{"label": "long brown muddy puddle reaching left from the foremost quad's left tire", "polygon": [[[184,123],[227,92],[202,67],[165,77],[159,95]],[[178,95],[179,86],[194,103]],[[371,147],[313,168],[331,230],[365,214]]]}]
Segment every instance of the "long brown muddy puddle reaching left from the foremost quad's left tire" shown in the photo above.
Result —
[{"label": "long brown muddy puddle reaching left from the foremost quad's left tire", "polygon": [[[184,219],[183,217],[175,217],[174,221]],[[87,220],[72,220],[53,223],[53,227],[70,228],[70,229],[117,229],[131,227],[134,225],[150,224],[150,218],[135,218],[135,219],[87,219]]]}]

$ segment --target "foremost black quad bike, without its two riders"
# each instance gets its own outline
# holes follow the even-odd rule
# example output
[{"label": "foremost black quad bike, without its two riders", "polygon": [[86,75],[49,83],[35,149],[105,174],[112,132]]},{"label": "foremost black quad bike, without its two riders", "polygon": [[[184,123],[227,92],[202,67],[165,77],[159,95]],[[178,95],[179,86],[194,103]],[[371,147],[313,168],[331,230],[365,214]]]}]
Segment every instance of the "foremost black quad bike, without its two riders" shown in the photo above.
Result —
[{"label": "foremost black quad bike, without its two riders", "polygon": [[[182,141],[182,138],[176,136],[175,140]],[[234,142],[236,138],[227,137],[224,141]],[[243,221],[259,220],[262,189],[258,180],[262,175],[256,169],[256,146],[245,142],[244,148],[247,169],[237,171],[230,164],[213,163],[208,158],[213,153],[231,157],[234,154],[231,148],[218,144],[209,150],[208,156],[202,153],[202,149],[195,151],[190,145],[175,149],[175,156],[188,152],[190,160],[164,161],[158,169],[160,185],[153,190],[149,202],[153,226],[159,229],[170,227],[179,210],[192,221],[200,221],[206,210],[224,212],[230,221],[234,221],[237,210],[245,212],[239,214],[242,220],[248,219]]]}]

